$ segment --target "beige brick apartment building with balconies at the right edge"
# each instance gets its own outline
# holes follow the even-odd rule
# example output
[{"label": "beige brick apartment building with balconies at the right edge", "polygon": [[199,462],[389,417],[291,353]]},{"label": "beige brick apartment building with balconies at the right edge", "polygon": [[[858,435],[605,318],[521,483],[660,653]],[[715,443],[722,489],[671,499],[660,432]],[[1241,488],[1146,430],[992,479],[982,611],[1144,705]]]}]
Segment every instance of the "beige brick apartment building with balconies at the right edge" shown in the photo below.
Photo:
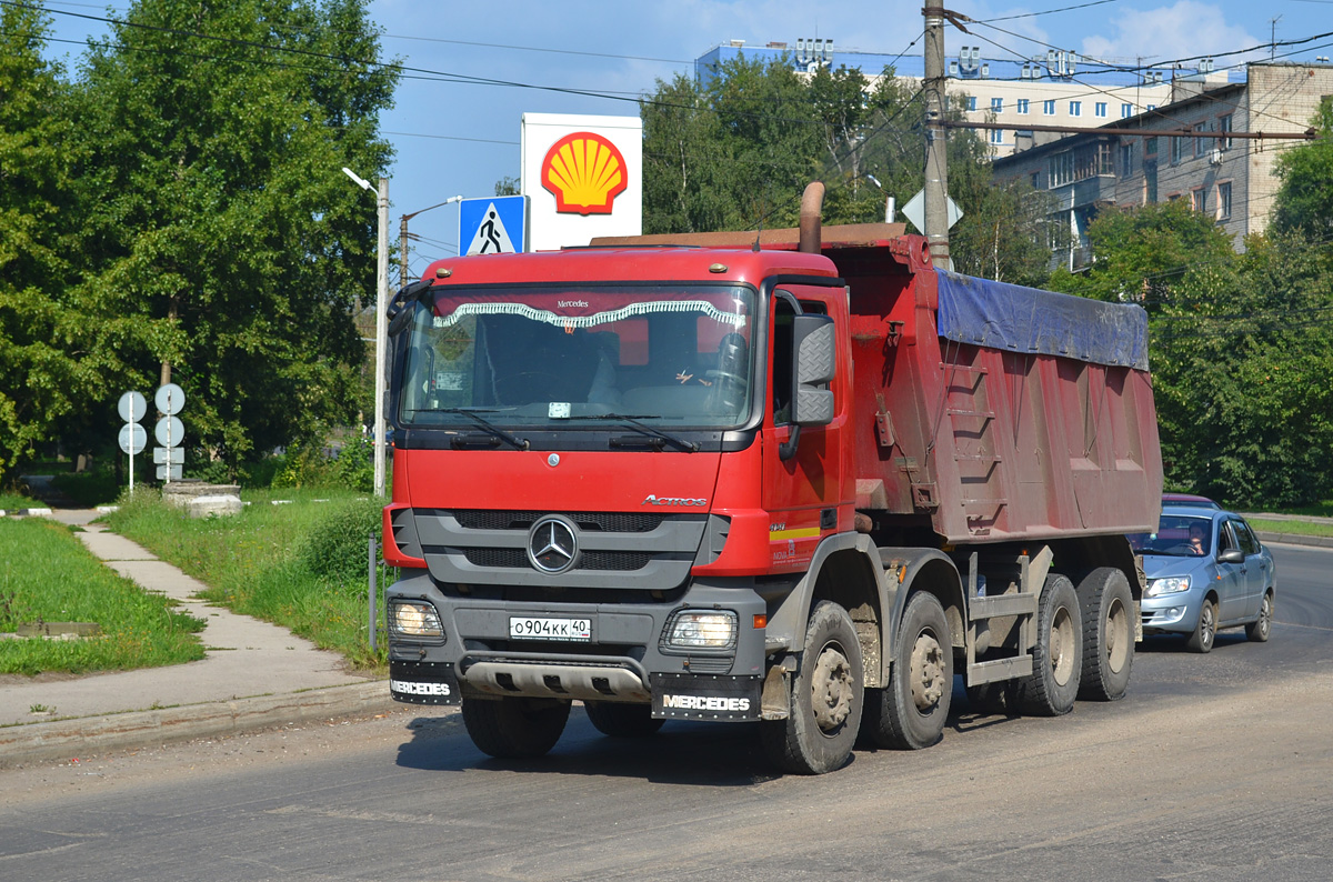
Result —
[{"label": "beige brick apartment building with balconies at the right edge", "polygon": [[1305,132],[1320,103],[1333,100],[1333,65],[1254,63],[1244,83],[1176,85],[1174,100],[1106,128],[1181,135],[1085,132],[996,160],[998,180],[1024,179],[1054,196],[1052,219],[1072,240],[1058,258],[1070,269],[1086,265],[1088,225],[1108,205],[1185,199],[1242,249],[1246,234],[1268,226],[1278,156],[1301,141],[1225,135]]}]

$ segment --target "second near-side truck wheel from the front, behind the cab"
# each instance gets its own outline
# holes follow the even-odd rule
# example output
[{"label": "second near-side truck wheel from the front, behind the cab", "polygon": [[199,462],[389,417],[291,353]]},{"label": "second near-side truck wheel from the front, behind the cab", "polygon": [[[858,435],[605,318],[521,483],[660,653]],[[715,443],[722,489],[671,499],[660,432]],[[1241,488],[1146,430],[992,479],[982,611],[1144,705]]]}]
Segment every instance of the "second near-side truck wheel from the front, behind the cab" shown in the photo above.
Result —
[{"label": "second near-side truck wheel from the front, behind the cab", "polygon": [[940,598],[917,592],[902,610],[889,685],[865,695],[862,726],[880,747],[921,750],[944,737],[953,697],[953,642]]}]

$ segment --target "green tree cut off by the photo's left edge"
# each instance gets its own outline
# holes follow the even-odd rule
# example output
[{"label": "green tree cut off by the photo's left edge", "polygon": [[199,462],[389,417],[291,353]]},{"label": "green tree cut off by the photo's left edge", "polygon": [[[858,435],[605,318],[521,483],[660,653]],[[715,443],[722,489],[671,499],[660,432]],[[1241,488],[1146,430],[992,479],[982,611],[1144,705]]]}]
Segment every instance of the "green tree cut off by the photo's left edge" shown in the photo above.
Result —
[{"label": "green tree cut off by the photo's left edge", "polygon": [[71,124],[57,65],[41,59],[49,16],[0,7],[0,480],[97,386],[68,278]]}]

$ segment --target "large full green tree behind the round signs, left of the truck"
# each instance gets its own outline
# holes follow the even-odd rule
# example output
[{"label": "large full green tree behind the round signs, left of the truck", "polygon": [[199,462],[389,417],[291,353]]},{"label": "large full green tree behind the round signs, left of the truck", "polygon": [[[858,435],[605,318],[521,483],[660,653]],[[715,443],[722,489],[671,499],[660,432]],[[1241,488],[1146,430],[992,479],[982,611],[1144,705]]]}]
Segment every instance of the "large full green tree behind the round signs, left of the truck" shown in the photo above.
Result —
[{"label": "large full green tree behind the round signs, left of the truck", "polygon": [[87,57],[75,298],[233,472],[353,414],[375,212],[337,169],[392,156],[379,56],[364,0],[137,0]]}]

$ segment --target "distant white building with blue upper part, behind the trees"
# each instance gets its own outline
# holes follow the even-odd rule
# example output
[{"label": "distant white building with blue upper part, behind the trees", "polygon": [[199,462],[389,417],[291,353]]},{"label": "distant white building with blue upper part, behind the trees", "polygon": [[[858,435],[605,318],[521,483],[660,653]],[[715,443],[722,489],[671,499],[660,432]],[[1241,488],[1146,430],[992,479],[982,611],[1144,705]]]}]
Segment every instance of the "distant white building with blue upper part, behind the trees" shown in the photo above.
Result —
[{"label": "distant white building with blue upper part, behind the trees", "polygon": [[[890,56],[833,49],[833,40],[797,40],[794,44],[746,45],[732,40],[694,61],[696,77],[706,84],[721,64],[732,59],[776,61],[786,59],[797,71],[846,65],[861,71],[873,88],[886,67],[896,76],[917,83],[924,77],[921,55]],[[981,57],[978,47],[962,47],[945,59],[946,95],[965,119],[1001,123],[1005,128],[981,133],[996,157],[1009,156],[1060,137],[1034,131],[1034,125],[1097,127],[1148,113],[1170,101],[1173,83],[1193,79],[1209,85],[1240,81],[1241,72],[1197,68],[1130,69],[1093,61],[1070,52],[1050,51],[1026,61]]]}]

